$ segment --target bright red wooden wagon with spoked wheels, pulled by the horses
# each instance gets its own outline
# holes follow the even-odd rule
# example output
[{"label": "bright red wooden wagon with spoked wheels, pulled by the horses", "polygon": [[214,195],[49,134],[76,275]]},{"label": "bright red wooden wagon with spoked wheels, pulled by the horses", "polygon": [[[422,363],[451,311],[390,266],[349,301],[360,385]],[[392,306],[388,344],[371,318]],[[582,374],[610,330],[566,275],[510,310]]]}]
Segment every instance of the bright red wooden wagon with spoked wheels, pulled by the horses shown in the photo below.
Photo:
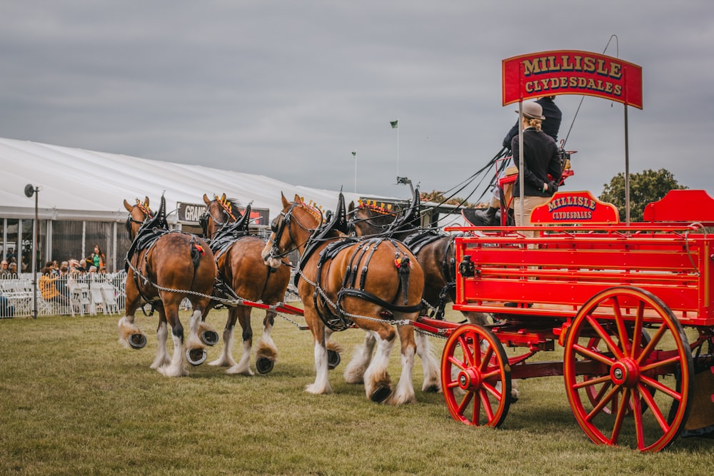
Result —
[{"label": "bright red wooden wagon with spoked wheels, pulled by the horses", "polygon": [[[554,224],[580,213],[599,224]],[[494,323],[416,323],[448,337],[441,378],[451,416],[498,427],[511,379],[562,375],[575,419],[598,444],[658,451],[702,425],[693,420],[710,421],[714,200],[672,191],[648,206],[647,223],[625,226],[588,193],[558,193],[532,217],[550,224],[452,229],[463,232],[454,309],[492,313]],[[562,360],[531,359],[556,343]]]}]

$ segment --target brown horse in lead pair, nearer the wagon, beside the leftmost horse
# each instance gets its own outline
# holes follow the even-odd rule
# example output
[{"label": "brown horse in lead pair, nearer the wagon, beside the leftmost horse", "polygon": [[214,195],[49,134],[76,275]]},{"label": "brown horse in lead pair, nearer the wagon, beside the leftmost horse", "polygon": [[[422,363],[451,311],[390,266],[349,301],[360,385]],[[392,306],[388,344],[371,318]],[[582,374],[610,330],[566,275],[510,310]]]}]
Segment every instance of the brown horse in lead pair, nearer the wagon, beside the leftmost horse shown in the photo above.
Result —
[{"label": "brown horse in lead pair, nearer the wagon, beside the leftmost horse", "polygon": [[[245,228],[241,223],[249,220],[250,206],[246,208],[246,215],[243,216],[238,210],[236,200],[223,196],[215,196],[213,200],[205,194],[203,201],[206,203],[206,214],[201,218],[203,226],[203,236],[211,243],[211,250],[218,266],[218,278],[221,283],[228,285],[231,292],[226,293],[226,299],[244,299],[251,301],[261,300],[263,303],[274,305],[283,300],[288,282],[290,281],[290,268],[288,268],[287,258],[283,259],[283,264],[277,268],[270,268],[263,262],[261,252],[265,248],[266,242],[257,236],[248,235],[247,223]],[[239,222],[243,218],[243,221]],[[228,231],[232,223],[238,228],[231,233],[220,234],[221,231]],[[217,301],[212,301],[213,307]],[[251,370],[251,347],[253,345],[253,329],[251,328],[251,308],[247,305],[228,305],[228,320],[226,328],[223,330],[223,351],[221,357],[213,360],[209,365],[222,365],[229,367],[226,373],[236,373],[243,375],[253,375]],[[204,311],[208,313],[208,308]],[[275,322],[276,313],[273,310],[266,310],[266,317],[263,319],[263,336],[258,343],[256,353],[256,370],[258,373],[268,373],[273,370],[273,365],[278,357],[278,349],[271,338],[271,330]],[[243,329],[243,355],[236,363],[233,360],[233,330],[236,328],[236,321]]]}]

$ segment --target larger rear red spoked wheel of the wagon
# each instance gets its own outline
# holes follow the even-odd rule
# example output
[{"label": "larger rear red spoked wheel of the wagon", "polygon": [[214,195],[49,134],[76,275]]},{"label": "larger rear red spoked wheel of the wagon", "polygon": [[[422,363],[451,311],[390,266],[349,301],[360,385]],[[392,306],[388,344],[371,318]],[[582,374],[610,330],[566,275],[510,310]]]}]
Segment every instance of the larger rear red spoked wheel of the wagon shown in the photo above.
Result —
[{"label": "larger rear red spoked wheel of the wagon", "polygon": [[[605,350],[591,345],[593,338]],[[580,308],[568,330],[563,375],[575,420],[595,443],[659,451],[687,420],[687,337],[667,305],[640,288],[610,288]]]}]

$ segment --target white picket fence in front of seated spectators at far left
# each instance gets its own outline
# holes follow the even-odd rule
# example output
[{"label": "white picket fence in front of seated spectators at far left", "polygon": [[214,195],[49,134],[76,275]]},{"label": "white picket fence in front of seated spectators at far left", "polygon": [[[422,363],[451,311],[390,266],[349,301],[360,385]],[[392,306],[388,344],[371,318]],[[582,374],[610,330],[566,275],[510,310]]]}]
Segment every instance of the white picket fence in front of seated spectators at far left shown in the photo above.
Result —
[{"label": "white picket fence in front of seated spectators at far left", "polygon": [[[38,278],[39,279],[39,278]],[[45,300],[38,283],[37,315],[97,315],[124,313],[126,273],[61,276],[54,285],[61,297]],[[0,318],[29,317],[34,308],[32,276],[0,279]]]}]

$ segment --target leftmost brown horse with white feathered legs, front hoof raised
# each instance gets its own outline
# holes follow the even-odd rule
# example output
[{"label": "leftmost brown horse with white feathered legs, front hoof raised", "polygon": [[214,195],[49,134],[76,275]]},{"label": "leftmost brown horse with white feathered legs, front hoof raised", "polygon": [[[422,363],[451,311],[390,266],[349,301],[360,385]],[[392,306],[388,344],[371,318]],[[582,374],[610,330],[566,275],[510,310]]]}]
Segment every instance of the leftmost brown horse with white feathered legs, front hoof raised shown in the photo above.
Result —
[{"label": "leftmost brown horse with white feathered legs, front hoof raised", "polygon": [[[125,200],[124,207],[129,211],[126,228],[133,241],[126,255],[126,313],[119,320],[119,340],[133,348],[146,345],[146,335],[134,323],[134,313],[142,303],[151,303],[159,311],[159,346],[151,368],[169,377],[188,375],[183,363],[183,326],[178,306],[184,298],[191,301],[193,315],[185,343],[186,357],[198,365],[206,358],[198,333],[216,278],[213,253],[198,236],[168,230],[163,196],[156,215],[149,208],[148,197],[144,203],[137,199],[136,205]],[[171,325],[174,340],[171,358],[166,350],[167,324]]]}]

